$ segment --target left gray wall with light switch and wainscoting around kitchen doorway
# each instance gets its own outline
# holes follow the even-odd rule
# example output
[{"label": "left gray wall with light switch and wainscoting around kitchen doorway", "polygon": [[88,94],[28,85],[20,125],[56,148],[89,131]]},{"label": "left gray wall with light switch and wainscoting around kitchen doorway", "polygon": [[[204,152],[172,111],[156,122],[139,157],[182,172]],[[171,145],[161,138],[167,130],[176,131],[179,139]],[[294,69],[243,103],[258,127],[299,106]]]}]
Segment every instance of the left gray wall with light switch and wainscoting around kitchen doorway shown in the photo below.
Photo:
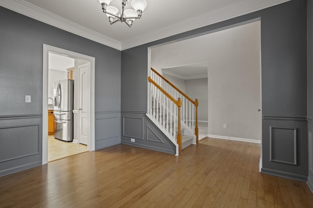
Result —
[{"label": "left gray wall with light switch and wainscoting around kitchen doorway", "polygon": [[43,44],[95,57],[95,148],[120,143],[120,51],[3,7],[0,25],[0,175],[42,164]]}]

